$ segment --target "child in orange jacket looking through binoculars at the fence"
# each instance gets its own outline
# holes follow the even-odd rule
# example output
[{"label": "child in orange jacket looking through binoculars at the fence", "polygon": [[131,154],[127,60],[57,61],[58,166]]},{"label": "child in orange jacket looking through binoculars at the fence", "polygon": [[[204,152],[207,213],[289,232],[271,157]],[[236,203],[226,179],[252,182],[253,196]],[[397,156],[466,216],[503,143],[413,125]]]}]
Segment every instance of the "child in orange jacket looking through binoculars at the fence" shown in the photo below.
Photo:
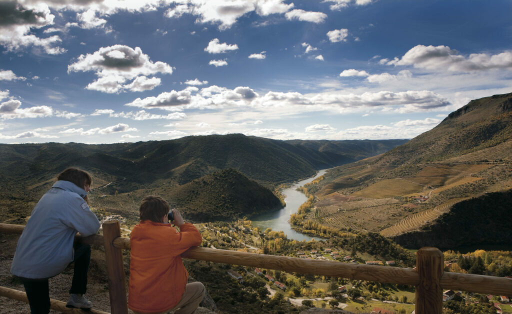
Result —
[{"label": "child in orange jacket looking through binoculars at the fence", "polygon": [[194,313],[203,300],[204,285],[188,283],[181,254],[201,244],[198,229],[184,223],[173,210],[174,224],[168,221],[169,204],[159,196],[147,196],[139,208],[140,223],[130,236],[130,285],[128,306],[134,313]]}]

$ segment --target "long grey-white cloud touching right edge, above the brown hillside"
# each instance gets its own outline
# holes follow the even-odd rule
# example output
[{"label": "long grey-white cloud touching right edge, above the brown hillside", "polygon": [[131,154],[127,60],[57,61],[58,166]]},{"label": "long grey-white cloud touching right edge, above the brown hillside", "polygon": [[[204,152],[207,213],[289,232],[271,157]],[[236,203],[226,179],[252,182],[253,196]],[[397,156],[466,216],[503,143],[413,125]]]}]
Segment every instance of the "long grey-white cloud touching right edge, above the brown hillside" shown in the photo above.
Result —
[{"label": "long grey-white cloud touching right edge, above the brown hillside", "polygon": [[401,58],[382,59],[383,63],[395,66],[414,66],[425,70],[471,72],[490,69],[512,69],[512,51],[490,55],[472,53],[463,56],[447,46],[423,46],[411,48]]}]

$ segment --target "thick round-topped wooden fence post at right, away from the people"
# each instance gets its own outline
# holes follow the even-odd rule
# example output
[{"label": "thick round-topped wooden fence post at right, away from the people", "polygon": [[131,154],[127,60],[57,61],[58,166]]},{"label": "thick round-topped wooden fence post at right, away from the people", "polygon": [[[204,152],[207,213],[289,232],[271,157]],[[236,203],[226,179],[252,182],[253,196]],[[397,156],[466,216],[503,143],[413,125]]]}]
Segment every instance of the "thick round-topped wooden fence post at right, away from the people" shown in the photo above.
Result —
[{"label": "thick round-topped wooden fence post at right, away from the people", "polygon": [[435,247],[422,247],[416,252],[416,270],[419,284],[416,286],[416,314],[441,314],[443,311],[444,256]]}]

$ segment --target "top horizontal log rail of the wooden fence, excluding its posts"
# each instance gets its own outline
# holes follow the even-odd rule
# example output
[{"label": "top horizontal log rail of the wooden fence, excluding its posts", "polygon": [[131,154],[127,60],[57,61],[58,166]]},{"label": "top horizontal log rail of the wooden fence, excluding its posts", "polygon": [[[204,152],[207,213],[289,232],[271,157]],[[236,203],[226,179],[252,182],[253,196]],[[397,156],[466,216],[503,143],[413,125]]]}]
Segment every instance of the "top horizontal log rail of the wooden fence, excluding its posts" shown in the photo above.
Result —
[{"label": "top horizontal log rail of the wooden fence, excluding its posts", "polygon": [[[0,223],[0,232],[21,234],[24,227],[24,225]],[[77,234],[77,240],[89,244],[104,245],[103,236],[101,235],[81,237]],[[130,239],[118,237],[114,240],[114,246],[130,249]],[[254,254],[206,247],[191,247],[181,256],[195,260],[279,269],[303,274],[325,275],[411,286],[416,286],[419,283],[417,271],[410,268],[305,260],[295,257]],[[445,271],[441,277],[440,284],[443,289],[463,290],[493,295],[512,295],[512,279],[510,278],[459,274]]]}]

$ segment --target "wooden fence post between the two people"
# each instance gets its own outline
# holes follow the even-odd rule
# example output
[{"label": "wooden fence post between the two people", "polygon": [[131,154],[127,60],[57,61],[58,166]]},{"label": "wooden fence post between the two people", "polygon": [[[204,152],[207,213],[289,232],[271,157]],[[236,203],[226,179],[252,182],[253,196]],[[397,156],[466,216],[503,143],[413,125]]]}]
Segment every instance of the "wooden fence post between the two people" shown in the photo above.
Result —
[{"label": "wooden fence post between the two people", "polygon": [[126,285],[122,249],[114,246],[114,239],[121,236],[119,221],[103,223],[106,270],[109,276],[110,310],[112,314],[127,314]]}]

